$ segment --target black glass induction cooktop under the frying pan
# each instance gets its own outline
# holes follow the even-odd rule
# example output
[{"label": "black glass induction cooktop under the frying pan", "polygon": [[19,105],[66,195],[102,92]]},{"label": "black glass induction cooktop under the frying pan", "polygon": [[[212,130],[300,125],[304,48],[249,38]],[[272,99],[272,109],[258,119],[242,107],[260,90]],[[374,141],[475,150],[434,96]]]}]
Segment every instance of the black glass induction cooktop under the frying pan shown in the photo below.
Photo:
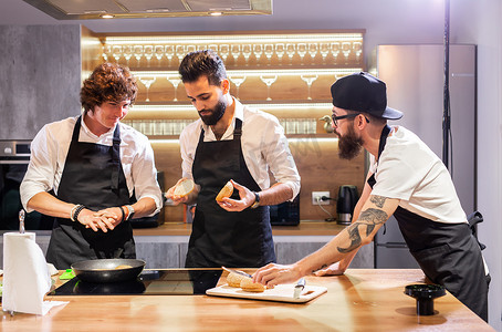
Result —
[{"label": "black glass induction cooktop under the frying pan", "polygon": [[216,287],[221,273],[221,269],[144,270],[135,280],[108,283],[75,277],[49,295],[197,295]]}]

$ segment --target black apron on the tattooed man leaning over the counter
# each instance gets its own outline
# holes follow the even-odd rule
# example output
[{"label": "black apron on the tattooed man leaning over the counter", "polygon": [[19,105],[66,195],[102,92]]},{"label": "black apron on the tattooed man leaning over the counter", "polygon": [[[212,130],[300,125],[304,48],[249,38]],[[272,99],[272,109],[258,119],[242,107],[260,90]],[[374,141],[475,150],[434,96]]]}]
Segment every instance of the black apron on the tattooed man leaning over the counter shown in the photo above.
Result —
[{"label": "black apron on the tattooed man leaning over the counter", "polygon": [[[390,127],[381,132],[378,158]],[[376,172],[375,172],[376,173]],[[373,188],[375,174],[368,178]],[[443,224],[398,207],[394,212],[409,251],[427,278],[446,287],[459,301],[488,321],[488,286],[483,258],[469,224]]]}]

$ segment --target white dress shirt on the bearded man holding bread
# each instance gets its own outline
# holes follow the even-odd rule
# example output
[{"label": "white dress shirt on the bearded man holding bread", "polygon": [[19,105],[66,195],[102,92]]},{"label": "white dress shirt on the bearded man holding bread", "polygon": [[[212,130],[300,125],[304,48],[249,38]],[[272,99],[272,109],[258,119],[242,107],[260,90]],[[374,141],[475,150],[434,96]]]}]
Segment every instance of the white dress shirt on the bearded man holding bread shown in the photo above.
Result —
[{"label": "white dress shirt on the bearded man holding bread", "polygon": [[[300,175],[283,127],[275,116],[243,106],[236,98],[233,102],[233,120],[221,139],[233,139],[236,118],[241,120],[242,154],[251,176],[263,190],[270,187],[270,170],[278,183],[285,184],[293,190],[293,197],[290,199],[293,200],[300,193]],[[184,177],[194,178],[192,164],[202,128],[205,142],[217,141],[212,129],[200,118],[185,127],[179,137]]]}]

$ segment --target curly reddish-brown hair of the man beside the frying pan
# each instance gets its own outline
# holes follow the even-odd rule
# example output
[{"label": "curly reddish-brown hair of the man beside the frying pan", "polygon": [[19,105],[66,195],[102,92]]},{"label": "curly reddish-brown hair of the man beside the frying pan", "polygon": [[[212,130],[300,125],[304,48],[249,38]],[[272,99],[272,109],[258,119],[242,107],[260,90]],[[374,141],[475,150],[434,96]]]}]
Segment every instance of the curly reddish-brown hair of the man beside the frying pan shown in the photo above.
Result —
[{"label": "curly reddish-brown hair of the man beside the frying pan", "polygon": [[105,62],[96,66],[91,76],[84,81],[81,90],[81,103],[85,112],[104,102],[130,100],[134,104],[138,92],[136,79],[127,66]]}]

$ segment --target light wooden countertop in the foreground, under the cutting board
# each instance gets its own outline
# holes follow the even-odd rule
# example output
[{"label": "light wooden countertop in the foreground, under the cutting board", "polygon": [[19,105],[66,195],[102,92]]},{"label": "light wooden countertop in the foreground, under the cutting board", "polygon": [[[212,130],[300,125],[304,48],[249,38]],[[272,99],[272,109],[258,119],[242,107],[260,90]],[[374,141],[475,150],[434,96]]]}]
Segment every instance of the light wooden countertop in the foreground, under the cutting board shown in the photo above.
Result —
[{"label": "light wooden countertop in the foreground, under the cutting board", "polygon": [[209,295],[48,297],[70,303],[44,317],[2,311],[0,330],[494,331],[450,293],[435,300],[435,315],[417,317],[416,301],[404,289],[423,282],[420,270],[349,269],[306,280],[327,293],[305,304]]}]

